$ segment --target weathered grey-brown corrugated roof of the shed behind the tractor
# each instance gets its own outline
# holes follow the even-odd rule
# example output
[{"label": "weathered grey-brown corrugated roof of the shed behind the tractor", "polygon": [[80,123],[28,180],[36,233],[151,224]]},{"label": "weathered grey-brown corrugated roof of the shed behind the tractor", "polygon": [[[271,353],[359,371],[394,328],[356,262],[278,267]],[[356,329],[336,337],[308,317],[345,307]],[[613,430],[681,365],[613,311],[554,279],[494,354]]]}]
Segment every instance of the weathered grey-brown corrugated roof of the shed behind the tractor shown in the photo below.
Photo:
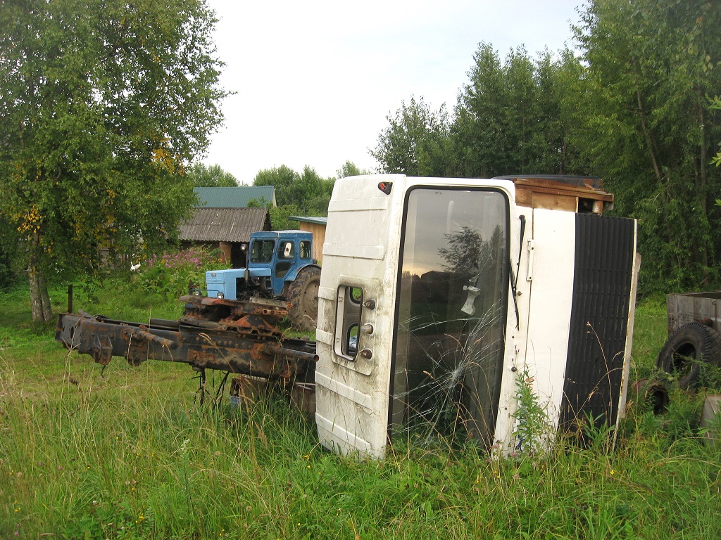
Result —
[{"label": "weathered grey-brown corrugated roof of the shed behind the tractor", "polygon": [[180,225],[181,240],[196,242],[248,242],[250,233],[270,230],[266,208],[198,208]]}]

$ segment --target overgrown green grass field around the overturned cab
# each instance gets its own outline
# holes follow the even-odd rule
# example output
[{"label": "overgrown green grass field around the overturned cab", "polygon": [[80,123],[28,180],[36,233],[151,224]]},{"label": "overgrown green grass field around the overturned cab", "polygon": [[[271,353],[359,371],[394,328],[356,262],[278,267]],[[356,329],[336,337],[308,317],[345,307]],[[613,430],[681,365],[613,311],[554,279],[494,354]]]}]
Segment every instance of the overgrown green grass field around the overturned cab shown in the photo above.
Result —
[{"label": "overgrown green grass field around the overturned cab", "polygon": [[[52,297],[66,310],[64,289]],[[180,309],[117,281],[74,304],[139,321]],[[653,374],[664,340],[663,299],[647,299],[632,379]],[[194,375],[123,359],[103,372],[32,328],[27,289],[0,294],[0,539],[721,536],[721,455],[698,430],[709,389],[673,390],[660,416],[632,403],[613,450],[598,433],[544,456],[396,446],[358,461],[320,449],[282,392],[200,407]]]}]

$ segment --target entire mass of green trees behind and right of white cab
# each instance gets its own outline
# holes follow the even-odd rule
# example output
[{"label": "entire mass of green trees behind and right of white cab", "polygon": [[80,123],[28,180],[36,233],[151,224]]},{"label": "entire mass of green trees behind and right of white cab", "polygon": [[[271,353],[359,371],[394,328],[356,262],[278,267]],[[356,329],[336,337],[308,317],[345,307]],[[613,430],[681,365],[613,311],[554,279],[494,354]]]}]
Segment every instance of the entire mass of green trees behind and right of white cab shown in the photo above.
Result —
[{"label": "entire mass of green trees behind and right of white cab", "polygon": [[580,14],[576,50],[501,58],[481,42],[453,114],[402,102],[371,154],[420,176],[599,176],[639,220],[642,294],[715,287],[721,10],[594,0]]}]

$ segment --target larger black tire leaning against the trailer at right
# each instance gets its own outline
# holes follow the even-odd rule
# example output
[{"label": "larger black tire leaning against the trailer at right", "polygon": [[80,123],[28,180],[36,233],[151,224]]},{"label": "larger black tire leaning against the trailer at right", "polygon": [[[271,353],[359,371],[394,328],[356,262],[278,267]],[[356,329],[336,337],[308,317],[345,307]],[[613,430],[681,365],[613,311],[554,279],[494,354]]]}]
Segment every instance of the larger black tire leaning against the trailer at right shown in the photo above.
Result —
[{"label": "larger black tire leaning against the trailer at right", "polygon": [[678,385],[687,388],[698,383],[702,362],[721,365],[721,336],[706,325],[689,323],[668,338],[656,365],[676,375]]}]

